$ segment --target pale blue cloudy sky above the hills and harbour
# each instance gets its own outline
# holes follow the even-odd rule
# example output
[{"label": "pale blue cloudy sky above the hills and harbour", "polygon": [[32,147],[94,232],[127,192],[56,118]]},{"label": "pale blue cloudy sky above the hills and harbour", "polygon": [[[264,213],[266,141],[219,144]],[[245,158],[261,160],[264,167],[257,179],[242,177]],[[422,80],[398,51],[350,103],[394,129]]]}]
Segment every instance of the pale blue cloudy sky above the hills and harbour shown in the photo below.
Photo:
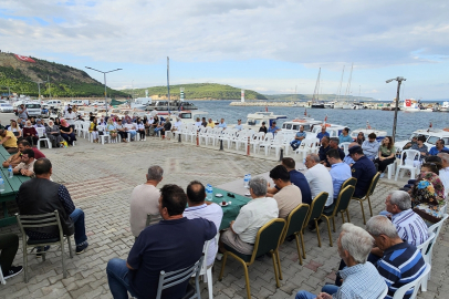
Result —
[{"label": "pale blue cloudy sky above the hills and harbour", "polygon": [[[223,83],[261,93],[449,99],[445,0],[1,0],[0,50],[84,69],[115,89]],[[85,69],[84,69],[85,70]],[[103,82],[103,75],[86,70]],[[401,93],[403,96],[403,93]]]}]

